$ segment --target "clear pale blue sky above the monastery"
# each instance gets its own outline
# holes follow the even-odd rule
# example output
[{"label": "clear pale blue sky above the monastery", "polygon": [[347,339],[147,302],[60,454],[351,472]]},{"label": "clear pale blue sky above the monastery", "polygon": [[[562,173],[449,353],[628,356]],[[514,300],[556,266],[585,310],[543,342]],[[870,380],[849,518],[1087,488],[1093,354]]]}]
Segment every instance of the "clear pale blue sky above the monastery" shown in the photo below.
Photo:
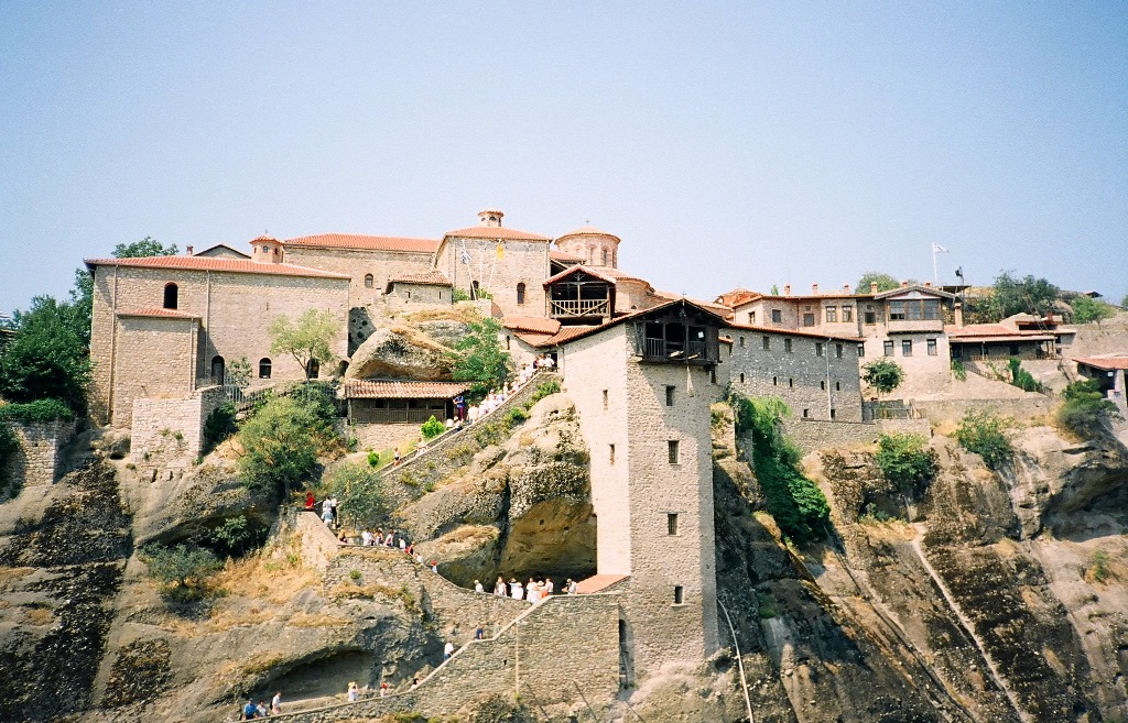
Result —
[{"label": "clear pale blue sky above the monastery", "polygon": [[[315,6],[317,6],[315,8]],[[0,310],[83,257],[496,206],[671,292],[1128,292],[1125,2],[0,3]]]}]

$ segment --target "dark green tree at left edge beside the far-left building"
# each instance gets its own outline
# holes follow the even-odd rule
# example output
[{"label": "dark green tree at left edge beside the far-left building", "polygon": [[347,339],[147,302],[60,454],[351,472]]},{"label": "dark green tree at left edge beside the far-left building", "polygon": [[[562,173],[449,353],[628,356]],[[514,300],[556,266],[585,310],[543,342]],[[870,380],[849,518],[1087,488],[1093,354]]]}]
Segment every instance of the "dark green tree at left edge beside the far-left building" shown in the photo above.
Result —
[{"label": "dark green tree at left edge beside the far-left building", "polygon": [[0,352],[0,396],[10,402],[59,399],[86,412],[90,357],[69,304],[36,296],[16,312],[16,333]]}]

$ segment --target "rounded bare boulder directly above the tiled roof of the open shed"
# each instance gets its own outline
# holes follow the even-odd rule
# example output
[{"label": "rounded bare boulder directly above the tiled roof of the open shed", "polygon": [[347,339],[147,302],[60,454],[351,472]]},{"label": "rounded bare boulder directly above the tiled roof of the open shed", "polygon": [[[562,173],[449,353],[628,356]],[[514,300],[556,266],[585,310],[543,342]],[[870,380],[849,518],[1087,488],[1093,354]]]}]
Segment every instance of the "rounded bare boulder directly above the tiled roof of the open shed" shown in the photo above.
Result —
[{"label": "rounded bare boulder directly above the tiled roof of the open shed", "polygon": [[450,348],[406,327],[377,329],[353,352],[349,380],[450,380]]}]

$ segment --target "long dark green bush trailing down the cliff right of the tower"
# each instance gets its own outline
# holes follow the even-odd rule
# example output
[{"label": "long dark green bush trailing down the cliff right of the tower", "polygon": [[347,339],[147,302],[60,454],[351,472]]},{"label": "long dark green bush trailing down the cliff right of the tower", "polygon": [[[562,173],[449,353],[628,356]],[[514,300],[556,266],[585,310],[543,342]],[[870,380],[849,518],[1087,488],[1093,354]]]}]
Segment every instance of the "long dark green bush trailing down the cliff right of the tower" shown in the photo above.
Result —
[{"label": "long dark green bush trailing down the cliff right of the tower", "polygon": [[752,467],[764,491],[768,512],[784,535],[799,544],[820,539],[830,519],[830,506],[814,482],[796,465],[802,453],[779,434],[779,418],[791,413],[783,401],[731,398],[738,429],[752,436]]}]

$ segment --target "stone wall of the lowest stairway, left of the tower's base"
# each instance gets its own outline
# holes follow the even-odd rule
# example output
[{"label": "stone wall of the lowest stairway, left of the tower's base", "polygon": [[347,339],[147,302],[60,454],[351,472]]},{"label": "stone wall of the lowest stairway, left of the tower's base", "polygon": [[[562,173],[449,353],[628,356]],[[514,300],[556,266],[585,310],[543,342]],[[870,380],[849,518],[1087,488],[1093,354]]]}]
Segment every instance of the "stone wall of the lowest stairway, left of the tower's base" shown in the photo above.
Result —
[{"label": "stone wall of the lowest stairway, left of the tower's base", "polygon": [[274,717],[327,723],[404,711],[453,715],[477,698],[514,693],[548,707],[583,705],[587,697],[602,711],[619,690],[619,599],[616,595],[554,596],[495,637],[457,650],[413,690]]}]

